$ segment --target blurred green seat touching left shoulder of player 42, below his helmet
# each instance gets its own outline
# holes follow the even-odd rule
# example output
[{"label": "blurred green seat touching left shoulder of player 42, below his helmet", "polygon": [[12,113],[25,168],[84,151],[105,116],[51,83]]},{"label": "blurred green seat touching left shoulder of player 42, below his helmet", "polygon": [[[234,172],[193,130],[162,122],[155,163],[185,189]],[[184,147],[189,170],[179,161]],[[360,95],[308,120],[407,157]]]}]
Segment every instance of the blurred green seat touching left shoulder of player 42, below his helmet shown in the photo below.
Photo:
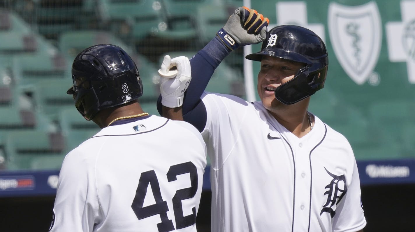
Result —
[{"label": "blurred green seat touching left shoulder of player 42, below his helmet", "polygon": [[59,112],[59,126],[61,134],[66,137],[66,153],[100,131],[100,127],[85,120],[75,106]]}]

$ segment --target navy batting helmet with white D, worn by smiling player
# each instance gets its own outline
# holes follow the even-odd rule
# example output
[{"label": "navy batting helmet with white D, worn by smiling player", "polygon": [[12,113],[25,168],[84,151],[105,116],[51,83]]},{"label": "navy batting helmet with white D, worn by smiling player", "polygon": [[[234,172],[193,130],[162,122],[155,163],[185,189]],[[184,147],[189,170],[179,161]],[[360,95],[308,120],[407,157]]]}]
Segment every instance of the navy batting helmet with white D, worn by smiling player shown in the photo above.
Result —
[{"label": "navy batting helmet with white D, worn by smiling player", "polygon": [[294,104],[324,87],[329,64],[326,46],[314,32],[301,26],[282,25],[268,31],[261,51],[247,55],[261,61],[264,56],[302,62],[294,78],[278,86],[275,97],[284,104]]}]

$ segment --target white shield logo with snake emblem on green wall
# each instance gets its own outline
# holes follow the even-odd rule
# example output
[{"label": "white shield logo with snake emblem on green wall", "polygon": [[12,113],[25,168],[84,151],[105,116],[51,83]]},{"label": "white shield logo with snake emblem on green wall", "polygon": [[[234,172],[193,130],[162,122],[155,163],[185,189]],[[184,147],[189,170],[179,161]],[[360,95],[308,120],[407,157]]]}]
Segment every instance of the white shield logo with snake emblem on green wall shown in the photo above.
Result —
[{"label": "white shield logo with snake emblem on green wall", "polygon": [[363,84],[373,72],[381,50],[381,17],[376,2],[360,6],[331,2],[328,25],[337,60],[356,84]]}]

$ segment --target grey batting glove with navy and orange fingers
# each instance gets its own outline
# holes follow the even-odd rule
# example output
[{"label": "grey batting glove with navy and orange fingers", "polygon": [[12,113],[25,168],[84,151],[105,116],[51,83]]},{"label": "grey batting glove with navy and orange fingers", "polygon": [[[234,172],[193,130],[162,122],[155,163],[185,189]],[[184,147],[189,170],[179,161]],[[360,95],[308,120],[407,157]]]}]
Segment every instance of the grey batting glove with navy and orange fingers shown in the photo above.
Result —
[{"label": "grey batting glove with navy and orange fingers", "polygon": [[230,49],[265,40],[269,19],[254,9],[239,7],[216,35]]}]

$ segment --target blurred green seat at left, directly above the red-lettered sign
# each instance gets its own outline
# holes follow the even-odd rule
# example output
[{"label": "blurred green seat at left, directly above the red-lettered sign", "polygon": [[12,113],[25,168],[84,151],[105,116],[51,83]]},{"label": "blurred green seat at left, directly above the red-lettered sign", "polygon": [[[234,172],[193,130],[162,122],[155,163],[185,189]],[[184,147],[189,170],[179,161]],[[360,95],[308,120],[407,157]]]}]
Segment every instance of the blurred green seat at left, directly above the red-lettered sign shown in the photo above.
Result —
[{"label": "blurred green seat at left, directly above the red-lettered sign", "polygon": [[9,132],[5,141],[8,170],[59,170],[65,157],[65,139],[59,133]]}]

